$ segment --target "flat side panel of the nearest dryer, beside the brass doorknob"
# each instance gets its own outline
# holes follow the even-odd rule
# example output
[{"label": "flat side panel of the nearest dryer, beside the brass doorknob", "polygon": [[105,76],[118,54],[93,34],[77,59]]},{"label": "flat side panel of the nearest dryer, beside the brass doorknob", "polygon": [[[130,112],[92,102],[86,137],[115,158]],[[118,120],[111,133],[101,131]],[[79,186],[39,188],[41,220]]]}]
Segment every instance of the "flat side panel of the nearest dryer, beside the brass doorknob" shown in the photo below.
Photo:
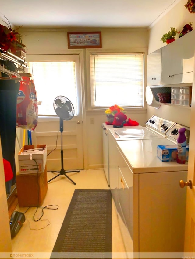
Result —
[{"label": "flat side panel of the nearest dryer, beside the brass doorknob", "polygon": [[[174,163],[174,162],[171,162]],[[183,252],[187,172],[139,174],[140,252]]]}]

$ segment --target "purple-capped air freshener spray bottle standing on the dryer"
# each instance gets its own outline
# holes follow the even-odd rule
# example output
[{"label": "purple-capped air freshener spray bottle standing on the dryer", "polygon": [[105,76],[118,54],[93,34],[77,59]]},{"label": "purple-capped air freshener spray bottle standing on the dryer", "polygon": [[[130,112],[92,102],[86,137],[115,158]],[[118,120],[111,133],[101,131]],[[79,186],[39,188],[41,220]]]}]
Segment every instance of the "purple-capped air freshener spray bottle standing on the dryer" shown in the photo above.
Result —
[{"label": "purple-capped air freshener spray bottle standing on the dryer", "polygon": [[179,129],[179,136],[177,138],[177,163],[185,164],[186,163],[186,135],[185,128]]}]

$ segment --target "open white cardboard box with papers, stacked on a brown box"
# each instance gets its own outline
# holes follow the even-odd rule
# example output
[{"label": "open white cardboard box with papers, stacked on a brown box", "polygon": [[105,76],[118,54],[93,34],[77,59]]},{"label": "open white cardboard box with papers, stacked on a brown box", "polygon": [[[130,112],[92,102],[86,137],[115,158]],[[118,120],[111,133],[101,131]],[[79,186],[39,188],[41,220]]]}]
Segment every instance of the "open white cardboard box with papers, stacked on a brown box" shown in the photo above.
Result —
[{"label": "open white cardboard box with papers, stacked on a brown box", "polygon": [[[46,145],[37,145],[36,148],[43,148],[44,151],[40,154],[28,154],[21,155],[25,150],[34,148],[34,145],[26,145],[20,149],[18,153],[18,162],[19,162],[19,173],[20,174],[34,174],[37,173],[37,165],[39,168],[39,173],[44,172],[46,161],[47,161],[47,146]],[[33,160],[35,159],[36,162]]]}]

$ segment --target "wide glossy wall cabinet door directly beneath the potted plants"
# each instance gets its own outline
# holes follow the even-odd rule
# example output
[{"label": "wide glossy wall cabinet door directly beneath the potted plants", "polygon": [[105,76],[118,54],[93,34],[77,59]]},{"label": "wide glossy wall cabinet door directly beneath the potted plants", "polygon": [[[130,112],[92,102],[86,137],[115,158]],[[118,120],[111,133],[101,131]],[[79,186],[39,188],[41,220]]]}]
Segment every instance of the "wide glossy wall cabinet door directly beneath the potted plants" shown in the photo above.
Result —
[{"label": "wide glossy wall cabinet door directly beneath the potted plants", "polygon": [[191,31],[162,48],[161,85],[192,83],[195,33]]}]

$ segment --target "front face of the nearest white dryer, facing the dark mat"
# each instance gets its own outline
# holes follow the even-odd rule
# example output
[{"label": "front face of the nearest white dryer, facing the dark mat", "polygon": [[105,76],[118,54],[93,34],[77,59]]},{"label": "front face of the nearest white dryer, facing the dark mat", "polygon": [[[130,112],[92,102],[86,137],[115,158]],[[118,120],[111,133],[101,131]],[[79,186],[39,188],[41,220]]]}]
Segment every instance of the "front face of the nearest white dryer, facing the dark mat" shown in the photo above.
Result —
[{"label": "front face of the nearest white dryer, facing the dark mat", "polygon": [[[118,167],[118,199],[119,218],[123,221],[120,224],[122,237],[126,250],[138,251],[138,174],[133,174],[129,168],[124,155],[119,150]],[[125,228],[126,226],[126,228]]]}]

